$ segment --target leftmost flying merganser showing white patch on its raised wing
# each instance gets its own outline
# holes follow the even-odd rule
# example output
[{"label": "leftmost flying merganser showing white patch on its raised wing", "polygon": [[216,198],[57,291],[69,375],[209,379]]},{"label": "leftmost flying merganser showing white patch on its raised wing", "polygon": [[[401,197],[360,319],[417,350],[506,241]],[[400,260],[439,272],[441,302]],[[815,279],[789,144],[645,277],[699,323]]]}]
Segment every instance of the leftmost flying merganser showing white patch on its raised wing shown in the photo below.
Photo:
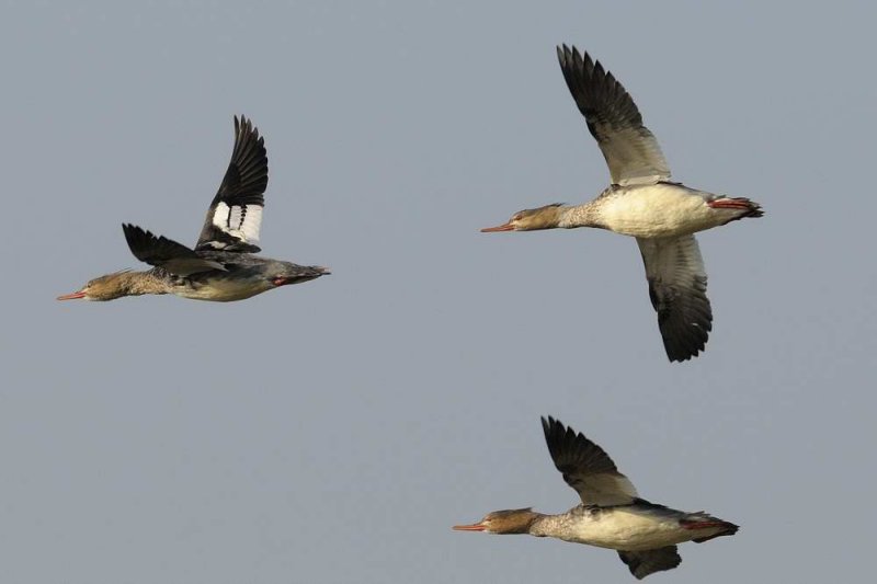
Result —
[{"label": "leftmost flying merganser showing white patch on its raised wing", "polygon": [[235,117],[235,149],[219,192],[195,249],[137,226],[122,229],[132,253],[147,264],[146,272],[115,272],[86,284],[58,300],[114,300],[123,296],[174,294],[195,300],[242,300],[287,284],[318,278],[329,271],[259,257],[255,245],[267,187],[265,140],[252,123]]}]

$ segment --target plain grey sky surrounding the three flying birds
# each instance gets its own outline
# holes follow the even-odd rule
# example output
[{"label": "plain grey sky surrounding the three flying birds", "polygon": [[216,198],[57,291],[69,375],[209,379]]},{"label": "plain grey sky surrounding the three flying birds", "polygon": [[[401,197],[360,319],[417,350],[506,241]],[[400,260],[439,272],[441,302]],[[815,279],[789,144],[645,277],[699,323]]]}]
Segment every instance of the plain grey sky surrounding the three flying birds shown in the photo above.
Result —
[{"label": "plain grey sky surrounding the three flying birds", "polygon": [[[4,582],[634,582],[613,551],[451,530],[576,493],[539,427],[654,502],[741,525],[667,581],[873,573],[866,2],[4,3]],[[715,328],[671,365],[634,241],[482,234],[608,172],[576,44],[674,178],[766,216],[702,234]],[[264,254],[333,275],[229,305],[56,302],[193,243],[232,115],[270,160]]]}]

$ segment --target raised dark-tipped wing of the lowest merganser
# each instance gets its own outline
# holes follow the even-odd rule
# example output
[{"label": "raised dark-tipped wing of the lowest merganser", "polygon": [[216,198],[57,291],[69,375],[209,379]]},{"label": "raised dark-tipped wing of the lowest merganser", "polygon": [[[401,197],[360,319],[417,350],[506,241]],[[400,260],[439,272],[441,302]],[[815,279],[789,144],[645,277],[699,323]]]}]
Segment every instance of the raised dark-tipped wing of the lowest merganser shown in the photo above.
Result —
[{"label": "raised dark-tipped wing of the lowest merganser", "polygon": [[611,506],[636,501],[636,489],[603,448],[551,416],[542,419],[542,427],[555,467],[582,503]]}]

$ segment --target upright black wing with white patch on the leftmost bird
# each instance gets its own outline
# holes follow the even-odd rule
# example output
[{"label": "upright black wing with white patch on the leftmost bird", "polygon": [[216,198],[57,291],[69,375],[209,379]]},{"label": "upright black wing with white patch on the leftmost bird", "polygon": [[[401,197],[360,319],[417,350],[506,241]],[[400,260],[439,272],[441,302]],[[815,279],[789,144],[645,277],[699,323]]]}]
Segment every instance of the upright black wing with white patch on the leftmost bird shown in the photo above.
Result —
[{"label": "upright black wing with white patch on the leftmost bird", "polygon": [[252,122],[235,117],[235,149],[219,191],[207,209],[196,250],[258,252],[267,187],[265,139]]}]

